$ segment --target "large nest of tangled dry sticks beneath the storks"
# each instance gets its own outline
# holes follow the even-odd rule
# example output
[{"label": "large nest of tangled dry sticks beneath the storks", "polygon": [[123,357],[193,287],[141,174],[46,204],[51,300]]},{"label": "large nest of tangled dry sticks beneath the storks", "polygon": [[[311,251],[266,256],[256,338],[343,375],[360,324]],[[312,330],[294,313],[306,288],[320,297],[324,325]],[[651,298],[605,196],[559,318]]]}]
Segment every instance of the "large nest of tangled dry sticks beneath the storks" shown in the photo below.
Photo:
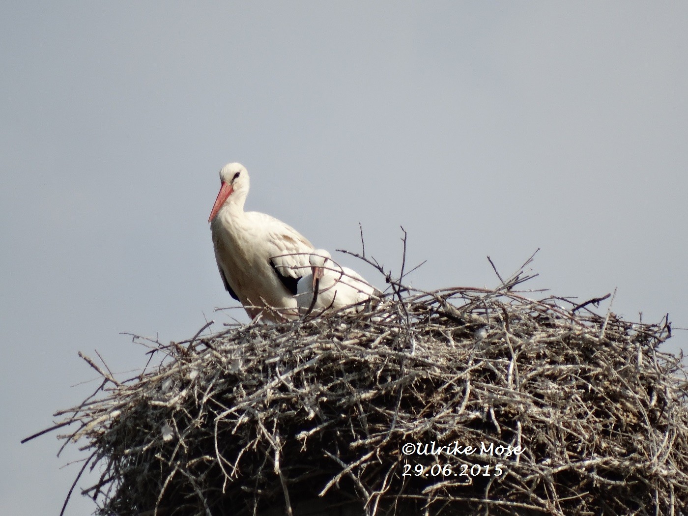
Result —
[{"label": "large nest of tangled dry sticks beneath the storks", "polygon": [[314,500],[341,515],[687,514],[668,321],[515,283],[396,283],[357,313],[135,339],[158,365],[103,372],[100,393],[58,412],[83,468],[101,464],[83,492],[99,515],[299,516]]}]

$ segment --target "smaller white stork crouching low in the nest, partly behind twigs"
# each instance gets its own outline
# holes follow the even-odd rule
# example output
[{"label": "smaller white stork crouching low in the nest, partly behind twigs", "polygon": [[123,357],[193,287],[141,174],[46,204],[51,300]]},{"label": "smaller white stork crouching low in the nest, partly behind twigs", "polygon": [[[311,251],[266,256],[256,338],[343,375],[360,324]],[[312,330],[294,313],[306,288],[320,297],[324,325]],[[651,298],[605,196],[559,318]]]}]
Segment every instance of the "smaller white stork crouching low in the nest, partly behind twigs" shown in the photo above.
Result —
[{"label": "smaller white stork crouching low in the nest, partly behind twigs", "polygon": [[297,304],[302,314],[314,308],[340,310],[347,306],[350,308],[346,312],[358,312],[363,309],[362,303],[380,294],[358,272],[334,263],[324,249],[314,250],[309,261],[311,274],[299,279],[297,286]]}]

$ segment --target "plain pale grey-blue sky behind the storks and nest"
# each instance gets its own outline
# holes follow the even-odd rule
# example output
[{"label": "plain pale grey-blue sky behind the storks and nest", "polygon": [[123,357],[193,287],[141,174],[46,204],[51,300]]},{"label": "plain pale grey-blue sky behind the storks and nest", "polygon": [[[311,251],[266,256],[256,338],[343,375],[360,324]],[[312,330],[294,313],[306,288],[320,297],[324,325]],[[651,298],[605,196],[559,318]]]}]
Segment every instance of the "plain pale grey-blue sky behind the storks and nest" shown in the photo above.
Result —
[{"label": "plain pale grey-blue sky behind the storks and nest", "polygon": [[334,252],[359,223],[393,272],[407,231],[417,288],[494,287],[488,255],[506,276],[539,248],[528,295],[616,288],[688,327],[687,26],[683,1],[3,2],[0,513],[62,507],[83,452],[19,441],[96,389],[79,351],[125,374],[122,332],[248,321],[215,311],[227,162],[247,209],[377,286]]}]

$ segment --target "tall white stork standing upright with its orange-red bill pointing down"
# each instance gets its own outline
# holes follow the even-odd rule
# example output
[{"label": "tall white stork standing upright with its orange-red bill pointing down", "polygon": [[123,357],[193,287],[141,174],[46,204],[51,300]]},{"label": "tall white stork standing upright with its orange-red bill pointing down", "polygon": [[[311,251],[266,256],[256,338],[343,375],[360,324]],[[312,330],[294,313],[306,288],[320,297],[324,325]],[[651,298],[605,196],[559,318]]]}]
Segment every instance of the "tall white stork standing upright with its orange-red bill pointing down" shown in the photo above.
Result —
[{"label": "tall white stork standing upright with its orange-red bill pointing down", "polygon": [[299,278],[309,270],[312,244],[297,230],[265,213],[244,211],[248,172],[239,163],[219,171],[221,187],[208,218],[211,223],[217,268],[224,288],[240,301],[253,319],[278,322],[271,308],[287,308],[287,318],[297,316]]}]

